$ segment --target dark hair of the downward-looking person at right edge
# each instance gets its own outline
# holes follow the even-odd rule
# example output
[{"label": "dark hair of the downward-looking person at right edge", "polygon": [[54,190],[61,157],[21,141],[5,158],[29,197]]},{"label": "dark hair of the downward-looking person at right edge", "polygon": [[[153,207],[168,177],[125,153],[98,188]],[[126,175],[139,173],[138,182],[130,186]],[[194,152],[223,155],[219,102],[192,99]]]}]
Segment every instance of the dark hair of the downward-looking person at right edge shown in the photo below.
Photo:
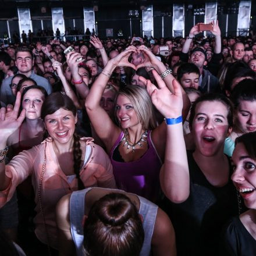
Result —
[{"label": "dark hair of the downward-looking person at right edge", "polygon": [[234,87],[231,99],[235,108],[239,106],[240,101],[256,101],[256,81],[252,79],[240,81]]}]

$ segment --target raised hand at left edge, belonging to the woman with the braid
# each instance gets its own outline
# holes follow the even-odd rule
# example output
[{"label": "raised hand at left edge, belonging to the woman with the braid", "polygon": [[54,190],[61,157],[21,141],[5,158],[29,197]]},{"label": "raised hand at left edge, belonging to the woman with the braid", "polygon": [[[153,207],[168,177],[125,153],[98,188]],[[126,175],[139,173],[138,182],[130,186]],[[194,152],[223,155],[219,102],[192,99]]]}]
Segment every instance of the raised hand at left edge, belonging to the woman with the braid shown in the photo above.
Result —
[{"label": "raised hand at left edge, belonging to the woman with the braid", "polygon": [[25,119],[26,109],[23,109],[19,115],[21,94],[18,91],[16,95],[16,101],[14,107],[7,105],[6,108],[0,109],[0,140],[7,140],[8,137],[13,134],[20,125],[22,125]]}]

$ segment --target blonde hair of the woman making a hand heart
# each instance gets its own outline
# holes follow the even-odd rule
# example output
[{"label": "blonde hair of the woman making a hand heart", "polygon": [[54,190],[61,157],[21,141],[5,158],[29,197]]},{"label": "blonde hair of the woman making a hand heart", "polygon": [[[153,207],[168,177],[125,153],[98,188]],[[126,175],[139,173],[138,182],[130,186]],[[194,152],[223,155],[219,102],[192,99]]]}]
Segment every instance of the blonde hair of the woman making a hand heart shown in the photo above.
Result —
[{"label": "blonde hair of the woman making a hand heart", "polygon": [[151,98],[145,88],[140,86],[126,86],[119,91],[119,95],[123,95],[129,99],[144,130],[153,130],[157,127]]}]

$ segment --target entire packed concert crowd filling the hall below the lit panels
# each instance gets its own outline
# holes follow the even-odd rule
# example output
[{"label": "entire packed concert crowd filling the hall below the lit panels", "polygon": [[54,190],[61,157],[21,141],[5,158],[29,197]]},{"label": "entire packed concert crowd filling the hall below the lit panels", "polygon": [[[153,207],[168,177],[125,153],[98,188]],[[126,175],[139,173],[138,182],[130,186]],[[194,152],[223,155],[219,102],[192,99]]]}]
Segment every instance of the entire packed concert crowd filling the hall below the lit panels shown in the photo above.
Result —
[{"label": "entire packed concert crowd filling the hall below the lit panels", "polygon": [[211,24],[2,47],[2,255],[256,255],[256,38]]}]

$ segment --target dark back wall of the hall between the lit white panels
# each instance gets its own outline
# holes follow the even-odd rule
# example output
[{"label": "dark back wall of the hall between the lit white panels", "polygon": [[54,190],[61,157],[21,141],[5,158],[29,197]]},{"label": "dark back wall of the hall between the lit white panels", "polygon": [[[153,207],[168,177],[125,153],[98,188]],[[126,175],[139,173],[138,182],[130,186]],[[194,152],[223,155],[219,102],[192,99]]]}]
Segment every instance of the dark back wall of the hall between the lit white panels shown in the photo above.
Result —
[{"label": "dark back wall of the hall between the lit white panels", "polygon": [[[30,8],[31,20],[33,24],[33,31],[37,33],[41,29],[41,20],[44,24],[44,29],[52,27],[51,8],[62,7],[64,13],[65,27],[73,29],[73,19],[75,20],[77,29],[84,31],[83,22],[83,7],[97,6],[98,11],[95,11],[95,22],[97,22],[97,31],[100,37],[105,37],[106,29],[113,29],[114,36],[117,35],[118,30],[122,29],[125,37],[130,36],[130,22],[131,34],[141,35],[141,6],[152,4],[154,6],[154,37],[172,36],[172,5],[173,3],[184,3],[185,6],[185,35],[189,33],[191,26],[193,26],[194,15],[193,9],[205,6],[206,1],[172,1],[172,0],[62,0],[62,1],[24,1],[24,0],[0,0],[0,38],[3,33],[7,31],[6,20],[9,20],[10,34],[19,31],[17,22],[17,8]],[[209,1],[211,2],[211,1]],[[188,5],[192,4],[193,9],[188,9]],[[222,35],[226,31],[226,15],[227,8],[232,5],[238,5],[239,1],[218,1],[218,6],[222,6],[222,12],[218,12],[219,26],[222,30]],[[42,13],[41,8],[45,7],[47,12]],[[130,17],[129,10],[138,10],[139,16]],[[228,14],[227,30],[228,34],[236,35],[237,27],[237,13]],[[251,26],[256,30],[256,1],[251,1]],[[204,22],[204,15],[195,16],[195,23]],[[163,25],[163,26],[162,26]]]}]

